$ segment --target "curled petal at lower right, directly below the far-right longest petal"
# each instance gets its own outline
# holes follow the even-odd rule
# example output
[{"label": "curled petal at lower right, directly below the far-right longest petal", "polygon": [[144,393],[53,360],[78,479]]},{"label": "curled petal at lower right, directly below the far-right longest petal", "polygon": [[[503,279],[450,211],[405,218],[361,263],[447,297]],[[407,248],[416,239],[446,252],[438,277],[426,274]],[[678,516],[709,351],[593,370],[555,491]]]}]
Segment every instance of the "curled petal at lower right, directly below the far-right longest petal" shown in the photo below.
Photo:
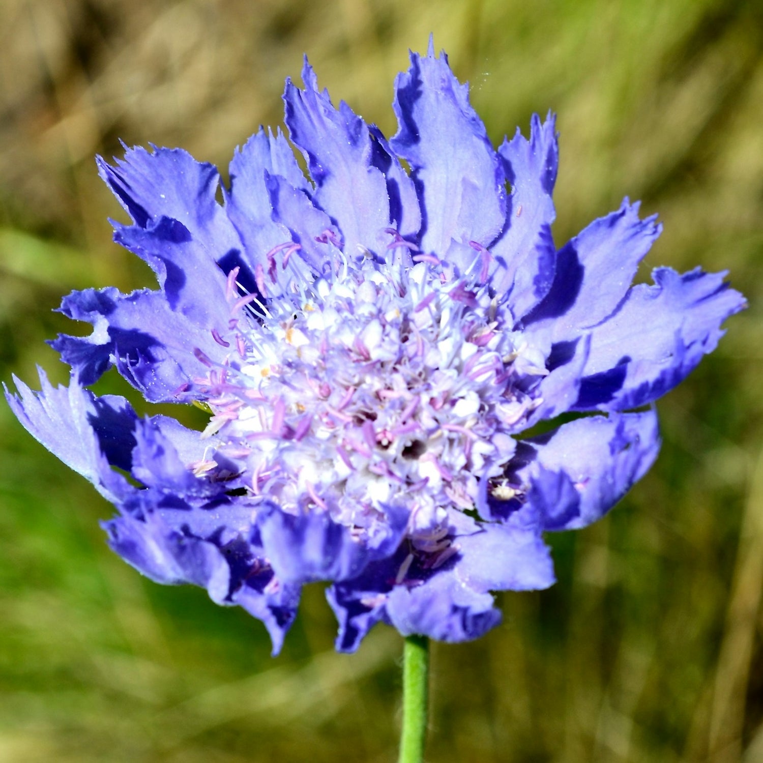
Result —
[{"label": "curled petal at lower right, directly below the far-right longest petal", "polygon": [[603,517],[657,458],[657,415],[649,410],[563,424],[526,441],[535,454],[517,473],[544,530],[575,530]]}]

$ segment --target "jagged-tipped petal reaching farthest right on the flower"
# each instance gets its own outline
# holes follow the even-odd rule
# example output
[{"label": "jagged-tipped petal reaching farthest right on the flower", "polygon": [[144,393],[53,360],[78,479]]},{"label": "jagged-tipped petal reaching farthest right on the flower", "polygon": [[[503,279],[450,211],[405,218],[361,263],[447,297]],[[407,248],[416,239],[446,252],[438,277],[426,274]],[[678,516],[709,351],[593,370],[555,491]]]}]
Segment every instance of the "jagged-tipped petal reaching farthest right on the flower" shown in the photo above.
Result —
[{"label": "jagged-tipped petal reaching farthest right on the flower", "polygon": [[656,400],[716,348],[725,333],[720,324],[746,304],[723,282],[725,273],[658,268],[652,275],[655,285],[634,286],[592,330],[578,410],[624,410]]}]

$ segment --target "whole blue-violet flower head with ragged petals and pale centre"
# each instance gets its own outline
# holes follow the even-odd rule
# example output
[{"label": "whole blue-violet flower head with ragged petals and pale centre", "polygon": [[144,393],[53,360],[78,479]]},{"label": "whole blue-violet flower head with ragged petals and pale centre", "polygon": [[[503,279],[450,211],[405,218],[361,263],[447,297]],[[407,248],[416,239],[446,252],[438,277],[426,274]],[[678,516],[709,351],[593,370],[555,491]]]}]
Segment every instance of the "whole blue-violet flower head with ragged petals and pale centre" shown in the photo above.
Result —
[{"label": "whole blue-violet flower head with ragged petals and pale centre", "polygon": [[[285,121],[310,178],[263,130],[224,204],[182,150],[98,159],[133,220],[115,240],[159,289],[66,297],[93,327],[53,342],[71,384],[40,372],[8,401],[115,504],[114,551],[244,607],[274,651],[311,581],[331,583],[337,649],[379,621],[473,639],[500,620],[491,591],[554,582],[543,533],[597,520],[652,465],[643,407],[744,300],[700,269],[631,286],[660,227],[627,200],[556,250],[554,119],[494,150],[431,46],[398,76],[391,140],[302,78]],[[85,389],[112,365],[208,426]],[[569,412],[590,415],[526,435]]]}]

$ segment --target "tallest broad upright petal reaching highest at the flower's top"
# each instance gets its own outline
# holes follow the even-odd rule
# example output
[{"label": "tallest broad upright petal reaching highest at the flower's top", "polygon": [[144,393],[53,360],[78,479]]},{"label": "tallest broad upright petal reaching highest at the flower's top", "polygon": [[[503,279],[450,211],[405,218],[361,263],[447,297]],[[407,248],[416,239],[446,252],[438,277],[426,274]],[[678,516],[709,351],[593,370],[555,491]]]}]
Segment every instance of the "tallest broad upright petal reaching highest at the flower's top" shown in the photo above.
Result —
[{"label": "tallest broad upright petal reaching highest at the flower's top", "polygon": [[420,246],[468,272],[478,262],[468,246],[488,246],[504,227],[504,173],[485,125],[453,76],[445,53],[410,54],[395,80],[398,132],[392,150],[413,169],[423,220]]}]

